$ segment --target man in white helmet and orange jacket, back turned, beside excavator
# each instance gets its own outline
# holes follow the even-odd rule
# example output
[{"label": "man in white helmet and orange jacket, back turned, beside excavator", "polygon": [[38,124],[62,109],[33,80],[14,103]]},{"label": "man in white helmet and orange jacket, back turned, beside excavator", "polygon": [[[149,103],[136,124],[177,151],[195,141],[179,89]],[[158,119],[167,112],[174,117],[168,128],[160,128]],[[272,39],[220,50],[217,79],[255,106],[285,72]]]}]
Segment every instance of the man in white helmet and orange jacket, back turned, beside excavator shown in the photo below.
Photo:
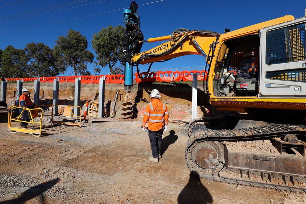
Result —
[{"label": "man in white helmet and orange jacket, back turned, beside excavator", "polygon": [[[141,128],[143,131],[149,130],[152,156],[150,161],[158,162],[162,158],[162,138],[163,131],[167,130],[169,114],[167,106],[159,100],[160,94],[157,89],[152,90],[150,96],[151,103],[148,104],[144,114]],[[148,126],[146,127],[146,124]]]}]

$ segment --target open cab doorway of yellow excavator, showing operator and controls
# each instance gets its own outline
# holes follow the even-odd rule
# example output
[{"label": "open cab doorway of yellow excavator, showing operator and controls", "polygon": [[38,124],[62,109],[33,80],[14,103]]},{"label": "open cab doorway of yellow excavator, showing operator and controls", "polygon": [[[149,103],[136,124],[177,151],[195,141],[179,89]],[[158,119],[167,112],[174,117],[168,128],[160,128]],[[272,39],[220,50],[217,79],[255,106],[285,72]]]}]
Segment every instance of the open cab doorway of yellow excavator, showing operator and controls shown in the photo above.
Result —
[{"label": "open cab doorway of yellow excavator, showing operator and controls", "polygon": [[257,95],[258,49],[258,35],[227,40],[221,45],[214,69],[214,95]]}]

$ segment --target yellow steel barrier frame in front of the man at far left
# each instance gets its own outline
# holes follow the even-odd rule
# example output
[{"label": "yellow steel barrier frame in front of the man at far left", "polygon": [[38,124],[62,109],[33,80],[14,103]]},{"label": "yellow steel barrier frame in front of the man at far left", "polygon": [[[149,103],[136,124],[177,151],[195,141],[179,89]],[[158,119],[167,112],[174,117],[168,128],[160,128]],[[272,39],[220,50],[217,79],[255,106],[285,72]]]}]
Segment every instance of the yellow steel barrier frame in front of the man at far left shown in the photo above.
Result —
[{"label": "yellow steel barrier frame in front of the man at far left", "polygon": [[[11,111],[13,109],[15,109],[15,108],[22,109],[22,111],[21,111],[21,113],[19,114],[19,116],[17,118],[12,118]],[[27,108],[26,110],[29,111],[30,122],[20,120],[21,115],[25,111],[23,109],[23,107],[19,107],[19,106],[10,106],[9,107],[9,113],[8,113],[9,114],[8,115],[8,131],[10,133],[23,132],[23,133],[31,134],[34,137],[40,137],[40,135],[41,135],[41,123],[42,123],[42,119],[43,119],[43,109],[42,108]],[[34,122],[31,111],[35,111],[35,112],[36,111],[41,111],[41,116],[40,116],[39,122]],[[27,129],[27,128],[21,128],[21,127],[14,127],[12,125],[12,121],[23,122],[23,123],[30,123],[30,124],[39,124],[39,129]]]}]

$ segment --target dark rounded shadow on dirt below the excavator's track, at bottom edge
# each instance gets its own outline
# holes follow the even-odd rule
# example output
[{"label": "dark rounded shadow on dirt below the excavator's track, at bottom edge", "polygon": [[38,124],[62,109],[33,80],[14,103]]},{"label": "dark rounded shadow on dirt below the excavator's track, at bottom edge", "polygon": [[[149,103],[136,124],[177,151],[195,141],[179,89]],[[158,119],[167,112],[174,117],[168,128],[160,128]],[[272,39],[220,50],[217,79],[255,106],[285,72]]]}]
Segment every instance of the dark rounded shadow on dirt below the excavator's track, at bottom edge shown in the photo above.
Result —
[{"label": "dark rounded shadow on dirt below the excavator's track, at bottom edge", "polygon": [[201,183],[200,177],[190,172],[190,177],[188,184],[180,192],[178,198],[178,203],[212,203],[213,198],[211,197],[209,191]]}]

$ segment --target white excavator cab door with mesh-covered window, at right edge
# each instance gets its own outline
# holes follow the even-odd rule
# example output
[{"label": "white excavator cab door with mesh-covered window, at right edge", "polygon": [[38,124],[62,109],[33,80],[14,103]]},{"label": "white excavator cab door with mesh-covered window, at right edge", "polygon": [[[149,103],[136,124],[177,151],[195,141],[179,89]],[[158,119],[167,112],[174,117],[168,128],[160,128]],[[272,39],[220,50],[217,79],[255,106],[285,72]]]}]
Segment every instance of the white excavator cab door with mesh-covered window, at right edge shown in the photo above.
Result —
[{"label": "white excavator cab door with mesh-covered window, at right edge", "polygon": [[259,97],[306,96],[306,17],[260,30]]}]

